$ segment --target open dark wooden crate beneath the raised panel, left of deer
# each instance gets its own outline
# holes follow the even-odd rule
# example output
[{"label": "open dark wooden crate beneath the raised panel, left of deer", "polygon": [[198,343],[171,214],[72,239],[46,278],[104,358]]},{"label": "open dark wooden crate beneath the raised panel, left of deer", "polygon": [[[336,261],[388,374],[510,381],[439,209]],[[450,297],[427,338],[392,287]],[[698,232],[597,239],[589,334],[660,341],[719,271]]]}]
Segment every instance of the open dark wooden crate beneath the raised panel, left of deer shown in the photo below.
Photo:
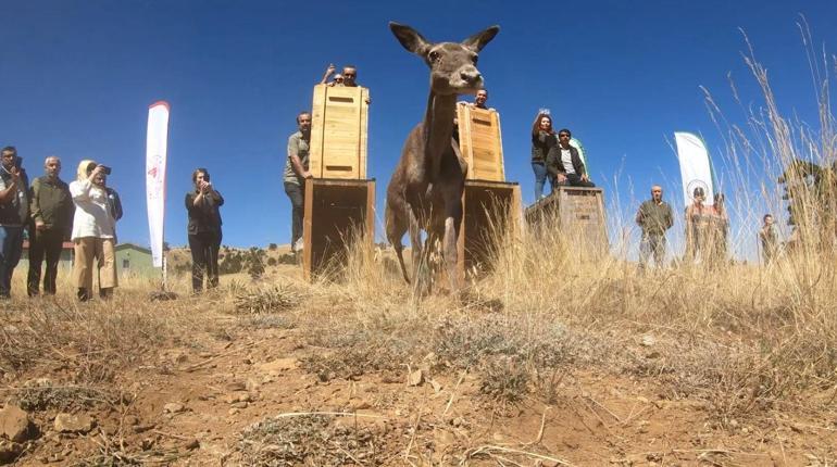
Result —
[{"label": "open dark wooden crate beneath the raised panel, left of deer", "polygon": [[309,178],[302,239],[303,276],[336,270],[346,264],[349,242],[375,235],[375,180]]}]

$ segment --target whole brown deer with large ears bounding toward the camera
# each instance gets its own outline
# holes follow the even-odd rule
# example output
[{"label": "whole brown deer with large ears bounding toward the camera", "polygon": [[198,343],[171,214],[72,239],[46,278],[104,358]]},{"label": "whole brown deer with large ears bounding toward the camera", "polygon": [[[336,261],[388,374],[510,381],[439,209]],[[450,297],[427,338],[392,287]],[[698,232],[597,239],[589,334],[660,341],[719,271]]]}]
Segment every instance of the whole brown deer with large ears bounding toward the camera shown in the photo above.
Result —
[{"label": "whole brown deer with large ears bounding toward the camera", "polygon": [[404,49],[424,59],[430,67],[430,96],[424,119],[407,137],[387,187],[387,239],[409,283],[401,238],[410,231],[416,287],[421,287],[422,279],[421,231],[427,234],[428,251],[441,240],[447,275],[451,289],[457,291],[457,240],[467,173],[467,164],[452,139],[457,96],[483,89],[483,76],[476,68],[477,53],[500,28],[491,26],[461,43],[428,42],[412,27],[398,23],[389,23],[389,28]]}]

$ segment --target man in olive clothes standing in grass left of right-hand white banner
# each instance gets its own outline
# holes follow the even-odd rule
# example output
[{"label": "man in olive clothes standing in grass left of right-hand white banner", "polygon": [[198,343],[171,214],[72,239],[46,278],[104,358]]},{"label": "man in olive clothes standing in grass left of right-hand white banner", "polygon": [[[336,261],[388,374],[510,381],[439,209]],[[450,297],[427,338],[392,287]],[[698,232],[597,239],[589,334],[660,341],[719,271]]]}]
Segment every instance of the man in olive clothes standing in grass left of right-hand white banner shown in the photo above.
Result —
[{"label": "man in olive clothes standing in grass left of right-hand white banner", "polygon": [[642,229],[639,242],[639,267],[645,269],[648,257],[653,254],[657,267],[665,260],[665,232],[674,225],[672,206],[663,201],[663,188],[651,187],[651,199],[639,205],[637,225]]}]

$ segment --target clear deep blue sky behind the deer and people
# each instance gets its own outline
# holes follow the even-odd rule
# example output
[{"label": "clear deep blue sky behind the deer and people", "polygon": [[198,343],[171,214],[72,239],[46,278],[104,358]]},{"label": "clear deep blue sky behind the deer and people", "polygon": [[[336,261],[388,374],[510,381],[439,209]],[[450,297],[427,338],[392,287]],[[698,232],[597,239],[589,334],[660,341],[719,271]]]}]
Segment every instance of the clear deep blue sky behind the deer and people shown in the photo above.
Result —
[{"label": "clear deep blue sky behind the deer and people", "polygon": [[[111,165],[110,185],[125,205],[121,239],[147,244],[147,112],[166,100],[166,240],[186,243],[183,198],[191,171],[203,166],[226,199],[225,244],[286,243],[285,143],[326,65],[355,64],[371,89],[368,173],[378,180],[382,218],[386,184],[428,89],[426,66],[387,22],[410,24],[434,41],[499,24],[479,68],[502,116],[507,178],[533,201],[528,134],[538,109],[549,108],[555,125],[584,142],[592,179],[610,201],[620,200],[614,211],[629,217],[652,182],[677,192],[666,142],[675,130],[702,134],[713,157],[720,151],[699,86],[732,106],[730,74],[745,105],[760,104],[739,28],[770,70],[782,110],[816,122],[797,22],[803,13],[817,47],[829,48],[836,4],[2,0],[0,144],[18,148],[30,177],[49,154],[62,157],[67,180],[82,159]],[[740,112],[730,114],[735,121]]]}]

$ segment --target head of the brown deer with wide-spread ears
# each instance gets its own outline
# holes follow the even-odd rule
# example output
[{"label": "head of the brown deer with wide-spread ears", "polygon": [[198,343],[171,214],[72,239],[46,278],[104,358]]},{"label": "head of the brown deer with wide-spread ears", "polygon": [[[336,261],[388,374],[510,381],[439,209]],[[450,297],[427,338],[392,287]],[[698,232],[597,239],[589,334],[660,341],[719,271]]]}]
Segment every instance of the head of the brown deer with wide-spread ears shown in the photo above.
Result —
[{"label": "head of the brown deer with wide-spread ears", "polygon": [[401,46],[424,59],[430,67],[430,90],[436,94],[474,94],[483,89],[483,75],[476,67],[479,51],[500,30],[491,26],[461,43],[427,41],[410,26],[389,23]]}]

